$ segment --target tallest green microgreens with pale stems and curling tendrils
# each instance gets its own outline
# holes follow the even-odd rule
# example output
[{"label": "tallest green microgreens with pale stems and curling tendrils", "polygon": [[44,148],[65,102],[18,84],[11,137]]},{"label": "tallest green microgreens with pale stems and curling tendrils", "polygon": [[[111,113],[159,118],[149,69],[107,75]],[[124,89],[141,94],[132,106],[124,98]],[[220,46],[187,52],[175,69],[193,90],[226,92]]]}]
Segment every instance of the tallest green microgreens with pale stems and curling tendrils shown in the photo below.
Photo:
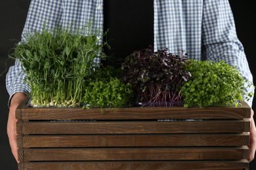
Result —
[{"label": "tallest green microgreens with pale stems and curling tendrils", "polygon": [[94,68],[95,58],[105,59],[105,45],[91,29],[56,27],[26,35],[16,44],[11,58],[18,59],[30,85],[33,105],[38,107],[77,106],[83,99],[85,78]]}]

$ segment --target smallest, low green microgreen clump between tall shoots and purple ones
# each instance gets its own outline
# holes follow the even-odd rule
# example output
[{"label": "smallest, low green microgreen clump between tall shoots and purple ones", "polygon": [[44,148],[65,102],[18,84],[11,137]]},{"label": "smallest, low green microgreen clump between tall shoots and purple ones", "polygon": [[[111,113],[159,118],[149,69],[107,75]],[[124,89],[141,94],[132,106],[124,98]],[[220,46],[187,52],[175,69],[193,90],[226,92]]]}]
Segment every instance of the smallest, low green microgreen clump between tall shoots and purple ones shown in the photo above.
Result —
[{"label": "smallest, low green microgreen clump between tall shoots and purple ones", "polygon": [[124,107],[131,103],[133,90],[125,84],[114,67],[97,68],[85,84],[84,108]]}]

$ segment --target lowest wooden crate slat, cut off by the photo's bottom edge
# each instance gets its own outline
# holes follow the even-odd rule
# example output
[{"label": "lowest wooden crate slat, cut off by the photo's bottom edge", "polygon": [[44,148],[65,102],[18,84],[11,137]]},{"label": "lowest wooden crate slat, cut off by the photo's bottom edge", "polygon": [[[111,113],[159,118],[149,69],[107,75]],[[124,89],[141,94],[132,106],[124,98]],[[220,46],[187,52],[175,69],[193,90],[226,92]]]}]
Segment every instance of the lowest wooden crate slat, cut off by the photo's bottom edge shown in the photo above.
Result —
[{"label": "lowest wooden crate slat, cut off by the photo's bottom edge", "polygon": [[248,161],[83,161],[83,162],[30,162],[26,170],[248,170]]}]

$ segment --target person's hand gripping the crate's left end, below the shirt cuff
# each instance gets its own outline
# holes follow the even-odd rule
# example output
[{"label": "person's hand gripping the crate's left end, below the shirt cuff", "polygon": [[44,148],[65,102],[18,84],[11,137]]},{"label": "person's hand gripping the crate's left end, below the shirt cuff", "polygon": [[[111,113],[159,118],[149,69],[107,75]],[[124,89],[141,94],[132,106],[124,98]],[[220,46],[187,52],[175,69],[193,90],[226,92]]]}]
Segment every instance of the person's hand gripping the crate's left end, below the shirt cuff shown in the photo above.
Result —
[{"label": "person's hand gripping the crate's left end, below the shirt cuff", "polygon": [[9,118],[7,122],[7,135],[9,137],[9,143],[11,146],[12,154],[18,161],[18,146],[17,146],[17,133],[16,133],[16,117],[15,117],[15,110],[26,100],[26,94],[22,92],[15,93],[11,99],[11,105],[9,110]]}]

